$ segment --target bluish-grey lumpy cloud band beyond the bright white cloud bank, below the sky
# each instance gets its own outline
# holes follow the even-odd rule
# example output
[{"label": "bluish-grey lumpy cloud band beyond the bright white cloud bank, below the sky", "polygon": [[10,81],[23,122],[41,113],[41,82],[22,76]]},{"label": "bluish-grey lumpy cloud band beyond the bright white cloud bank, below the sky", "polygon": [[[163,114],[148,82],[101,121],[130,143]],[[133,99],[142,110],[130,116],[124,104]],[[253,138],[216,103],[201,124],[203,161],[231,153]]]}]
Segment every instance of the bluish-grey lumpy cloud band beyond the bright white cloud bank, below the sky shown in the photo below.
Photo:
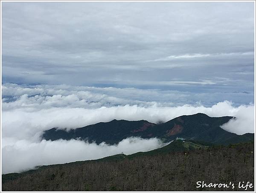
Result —
[{"label": "bluish-grey lumpy cloud band beyond the bright white cloud bank, below the sky", "polygon": [[232,101],[233,106],[250,104],[254,101],[253,92],[182,92],[177,90],[136,89],[136,88],[98,88],[69,85],[21,86],[3,84],[3,109],[52,107],[100,108],[138,105],[150,107],[154,104],[162,107],[203,105],[211,107],[220,101]]}]

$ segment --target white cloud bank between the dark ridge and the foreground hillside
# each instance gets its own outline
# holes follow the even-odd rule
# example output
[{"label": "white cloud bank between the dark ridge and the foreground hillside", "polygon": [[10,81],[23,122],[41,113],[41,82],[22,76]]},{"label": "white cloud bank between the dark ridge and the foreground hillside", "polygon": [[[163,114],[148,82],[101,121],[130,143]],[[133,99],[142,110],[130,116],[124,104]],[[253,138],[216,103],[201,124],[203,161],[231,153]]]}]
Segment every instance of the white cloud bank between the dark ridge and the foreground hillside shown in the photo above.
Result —
[{"label": "white cloud bank between the dark ridge and the foreground hillside", "polygon": [[57,140],[39,143],[20,140],[2,149],[3,173],[22,172],[39,165],[64,164],[112,156],[149,151],[165,146],[157,138],[126,138],[116,145],[87,143],[79,140]]}]

